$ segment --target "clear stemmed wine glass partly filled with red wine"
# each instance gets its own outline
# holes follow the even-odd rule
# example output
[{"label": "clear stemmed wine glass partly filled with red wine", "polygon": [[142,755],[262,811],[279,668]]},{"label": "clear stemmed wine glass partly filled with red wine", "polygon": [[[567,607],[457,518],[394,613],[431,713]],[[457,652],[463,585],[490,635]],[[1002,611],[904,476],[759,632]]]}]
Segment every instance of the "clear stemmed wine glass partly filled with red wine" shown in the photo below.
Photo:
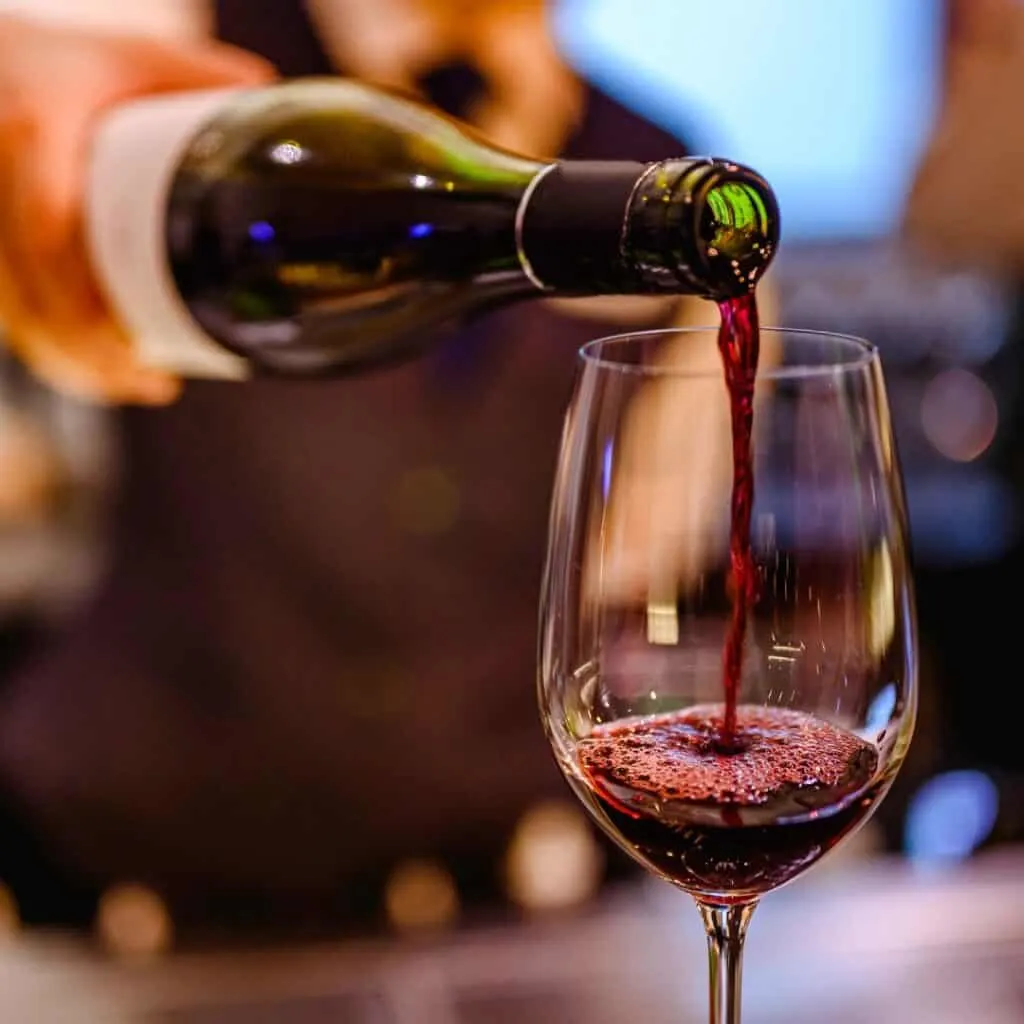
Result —
[{"label": "clear stemmed wine glass partly filled with red wine", "polygon": [[878,807],[916,706],[905,502],[878,352],[810,331],[761,338],[752,579],[731,567],[742,473],[730,501],[716,332],[623,335],[581,351],[541,612],[539,695],[558,764],[618,846],[695,899],[713,1024],[739,1022],[758,900]]}]

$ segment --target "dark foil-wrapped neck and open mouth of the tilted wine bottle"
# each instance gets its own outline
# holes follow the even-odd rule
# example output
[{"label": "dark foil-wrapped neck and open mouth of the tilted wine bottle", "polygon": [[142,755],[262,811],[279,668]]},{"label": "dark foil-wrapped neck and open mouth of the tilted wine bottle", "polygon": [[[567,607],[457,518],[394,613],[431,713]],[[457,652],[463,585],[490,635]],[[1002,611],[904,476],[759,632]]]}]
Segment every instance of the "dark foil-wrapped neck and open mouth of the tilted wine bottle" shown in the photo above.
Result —
[{"label": "dark foil-wrapped neck and open mouth of the tilted wine bottle", "polygon": [[706,158],[551,164],[516,216],[523,272],[563,295],[728,298],[754,287],[777,242],[767,182]]}]

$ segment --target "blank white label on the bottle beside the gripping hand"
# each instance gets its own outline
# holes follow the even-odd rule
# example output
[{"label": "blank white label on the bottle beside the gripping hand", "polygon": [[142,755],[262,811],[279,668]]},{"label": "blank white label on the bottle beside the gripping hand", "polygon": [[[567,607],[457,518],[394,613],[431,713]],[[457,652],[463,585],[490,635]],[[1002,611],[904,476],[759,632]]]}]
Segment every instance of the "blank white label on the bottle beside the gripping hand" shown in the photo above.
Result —
[{"label": "blank white label on the bottle beside the gripping hand", "polygon": [[99,287],[139,359],[186,377],[250,374],[188,312],[168,265],[165,226],[179,161],[238,94],[217,89],[132,102],[110,114],[94,136],[85,221]]}]

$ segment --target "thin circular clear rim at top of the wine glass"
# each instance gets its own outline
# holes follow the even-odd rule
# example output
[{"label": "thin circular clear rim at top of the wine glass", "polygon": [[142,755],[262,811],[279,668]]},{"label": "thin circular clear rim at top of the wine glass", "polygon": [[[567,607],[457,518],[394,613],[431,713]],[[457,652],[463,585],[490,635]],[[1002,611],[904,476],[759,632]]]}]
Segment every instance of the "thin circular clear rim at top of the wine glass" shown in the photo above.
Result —
[{"label": "thin circular clear rim at top of the wine glass", "polygon": [[[700,370],[688,368],[674,368],[662,366],[641,366],[635,362],[626,362],[622,359],[609,357],[600,350],[612,342],[643,341],[645,339],[668,337],[679,334],[702,334],[718,336],[718,328],[712,326],[703,327],[665,327],[653,328],[647,331],[624,331],[621,334],[604,335],[601,338],[594,338],[586,344],[581,345],[577,354],[581,361],[587,366],[598,370],[611,371],[636,377],[677,377],[680,379],[690,378],[699,380],[700,378],[721,377],[722,368],[715,366]],[[770,367],[758,368],[758,380],[779,381],[799,380],[814,377],[836,377],[855,371],[863,371],[879,361],[879,349],[866,338],[860,338],[854,334],[844,334],[840,331],[818,331],[810,328],[799,327],[763,327],[761,337],[765,335],[776,337],[802,337],[809,339],[841,342],[845,352],[838,358],[829,361],[803,361],[791,364],[777,364]]]}]

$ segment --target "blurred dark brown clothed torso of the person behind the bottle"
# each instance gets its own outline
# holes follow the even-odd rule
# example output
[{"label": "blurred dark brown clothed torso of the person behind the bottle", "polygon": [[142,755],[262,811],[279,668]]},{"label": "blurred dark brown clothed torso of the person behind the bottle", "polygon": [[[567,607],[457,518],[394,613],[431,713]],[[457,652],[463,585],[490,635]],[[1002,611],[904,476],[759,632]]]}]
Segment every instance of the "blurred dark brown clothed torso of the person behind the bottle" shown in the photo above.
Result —
[{"label": "blurred dark brown clothed torso of the person behind the bottle", "polygon": [[[221,35],[328,71],[288,7],[223,0]],[[565,155],[679,148],[591,90]],[[0,709],[4,774],[67,862],[185,902],[494,863],[564,793],[537,605],[575,350],[609,327],[525,304],[357,380],[122,412],[110,571]]]}]

